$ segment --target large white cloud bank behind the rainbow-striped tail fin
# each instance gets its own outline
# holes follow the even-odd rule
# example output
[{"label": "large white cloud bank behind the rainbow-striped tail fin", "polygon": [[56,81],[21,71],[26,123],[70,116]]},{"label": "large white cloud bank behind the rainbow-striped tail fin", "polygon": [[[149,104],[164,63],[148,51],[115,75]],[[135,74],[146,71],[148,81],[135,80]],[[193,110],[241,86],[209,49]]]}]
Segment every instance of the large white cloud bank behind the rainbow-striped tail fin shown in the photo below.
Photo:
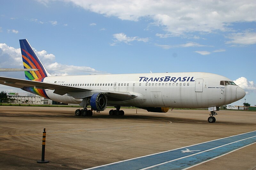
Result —
[{"label": "large white cloud bank behind the rainbow-striped tail fin", "polygon": [[[40,58],[41,62],[44,64],[46,70],[51,75],[84,75],[84,74],[106,74],[106,72],[95,70],[91,67],[87,66],[74,66],[61,64],[55,61],[55,55],[48,54],[47,51],[37,51],[34,49],[36,55]],[[0,68],[23,68],[22,58],[20,48],[9,47],[6,44],[0,43]],[[5,75],[5,77],[15,77],[14,76],[6,76],[11,75],[9,72],[1,72],[1,75]],[[24,78],[24,73],[19,74],[20,77],[16,78]]]}]

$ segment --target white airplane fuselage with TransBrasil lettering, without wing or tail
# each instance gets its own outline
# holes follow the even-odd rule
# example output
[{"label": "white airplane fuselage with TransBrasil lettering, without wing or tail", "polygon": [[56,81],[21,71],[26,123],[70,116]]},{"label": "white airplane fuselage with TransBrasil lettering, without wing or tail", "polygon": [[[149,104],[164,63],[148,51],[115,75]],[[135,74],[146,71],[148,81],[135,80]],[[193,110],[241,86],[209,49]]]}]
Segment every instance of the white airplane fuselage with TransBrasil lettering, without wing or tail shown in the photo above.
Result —
[{"label": "white airplane fuselage with TransBrasil lettering, without wing or tail", "polygon": [[[131,92],[138,97],[126,101],[108,100],[108,105],[135,107],[207,108],[223,106],[239,100],[237,85],[220,85],[230,79],[203,72],[109,74],[85,76],[51,76],[44,82],[76,86],[98,91]],[[81,103],[68,94],[58,95],[53,90],[46,94],[52,100]],[[238,95],[238,96],[237,96]],[[244,96],[242,96],[243,98]]]}]

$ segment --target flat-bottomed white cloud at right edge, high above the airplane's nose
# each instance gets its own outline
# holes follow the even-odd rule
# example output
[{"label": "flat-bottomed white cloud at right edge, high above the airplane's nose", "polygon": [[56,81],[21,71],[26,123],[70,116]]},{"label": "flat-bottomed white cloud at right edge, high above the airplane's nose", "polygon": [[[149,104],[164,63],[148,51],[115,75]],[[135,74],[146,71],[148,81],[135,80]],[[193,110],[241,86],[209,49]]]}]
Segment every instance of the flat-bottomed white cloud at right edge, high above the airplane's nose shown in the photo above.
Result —
[{"label": "flat-bottomed white cloud at right edge, high above the airplane's nose", "polygon": [[252,32],[252,30],[246,30],[241,33],[232,33],[227,38],[231,39],[231,41],[227,41],[227,44],[235,44],[235,45],[251,45],[256,44],[256,32]]}]

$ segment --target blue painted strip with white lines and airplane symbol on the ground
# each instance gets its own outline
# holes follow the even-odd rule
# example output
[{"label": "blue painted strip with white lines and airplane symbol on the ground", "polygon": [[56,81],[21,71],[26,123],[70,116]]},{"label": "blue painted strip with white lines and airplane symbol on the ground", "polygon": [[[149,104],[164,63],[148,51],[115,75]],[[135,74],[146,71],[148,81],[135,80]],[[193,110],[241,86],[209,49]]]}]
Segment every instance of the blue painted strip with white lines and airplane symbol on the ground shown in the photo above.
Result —
[{"label": "blue painted strip with white lines and airplane symbol on the ground", "polygon": [[256,143],[256,131],[89,169],[185,169]]}]

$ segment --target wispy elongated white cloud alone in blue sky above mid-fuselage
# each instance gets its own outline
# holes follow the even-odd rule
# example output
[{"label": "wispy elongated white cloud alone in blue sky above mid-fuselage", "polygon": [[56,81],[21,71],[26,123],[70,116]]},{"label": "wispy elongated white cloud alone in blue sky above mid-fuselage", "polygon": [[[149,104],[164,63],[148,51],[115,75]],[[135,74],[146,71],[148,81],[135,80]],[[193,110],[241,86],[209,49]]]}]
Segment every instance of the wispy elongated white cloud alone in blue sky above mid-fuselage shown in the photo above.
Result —
[{"label": "wispy elongated white cloud alone in blue sky above mid-fuselage", "polygon": [[112,45],[116,45],[116,42],[124,42],[126,44],[129,44],[129,42],[132,41],[143,41],[143,42],[148,42],[149,38],[140,38],[140,37],[128,37],[124,33],[116,33],[113,34],[113,37],[115,38],[114,42]]}]

